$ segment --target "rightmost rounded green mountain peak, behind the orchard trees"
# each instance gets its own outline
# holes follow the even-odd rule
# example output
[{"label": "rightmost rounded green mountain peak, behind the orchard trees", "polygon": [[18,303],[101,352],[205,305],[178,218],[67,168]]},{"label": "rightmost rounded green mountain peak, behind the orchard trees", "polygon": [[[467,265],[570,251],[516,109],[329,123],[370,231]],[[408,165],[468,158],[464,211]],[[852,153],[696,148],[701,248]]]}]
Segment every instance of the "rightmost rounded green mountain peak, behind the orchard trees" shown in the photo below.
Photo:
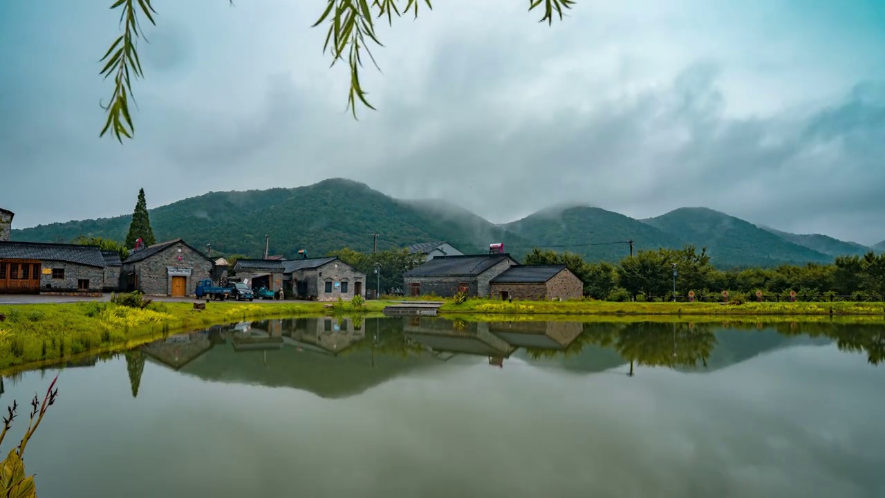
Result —
[{"label": "rightmost rounded green mountain peak, behind the orchard trees", "polygon": [[734,216],[706,207],[681,207],[643,220],[684,240],[706,246],[715,266],[771,267],[797,261],[831,262],[833,257],[798,245]]}]

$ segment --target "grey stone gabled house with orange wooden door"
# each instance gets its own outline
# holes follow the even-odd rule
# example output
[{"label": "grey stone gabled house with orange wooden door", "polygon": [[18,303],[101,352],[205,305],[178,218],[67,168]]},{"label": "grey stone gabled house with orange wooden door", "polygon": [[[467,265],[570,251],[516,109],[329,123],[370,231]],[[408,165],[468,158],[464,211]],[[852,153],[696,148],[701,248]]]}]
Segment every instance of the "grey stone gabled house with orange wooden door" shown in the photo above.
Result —
[{"label": "grey stone gabled house with orange wooden door", "polygon": [[139,249],[123,261],[124,288],[150,296],[184,297],[211,278],[212,260],[181,238]]}]

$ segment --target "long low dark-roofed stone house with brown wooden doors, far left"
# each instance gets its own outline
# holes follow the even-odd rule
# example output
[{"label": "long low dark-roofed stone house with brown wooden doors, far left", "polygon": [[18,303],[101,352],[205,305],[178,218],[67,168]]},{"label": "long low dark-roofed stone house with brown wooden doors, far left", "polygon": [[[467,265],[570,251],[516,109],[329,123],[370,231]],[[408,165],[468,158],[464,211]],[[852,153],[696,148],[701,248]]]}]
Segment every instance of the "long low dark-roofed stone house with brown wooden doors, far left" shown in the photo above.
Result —
[{"label": "long low dark-roofed stone house with brown wooden doors, far left", "polygon": [[94,245],[0,242],[0,293],[100,293],[106,266]]}]

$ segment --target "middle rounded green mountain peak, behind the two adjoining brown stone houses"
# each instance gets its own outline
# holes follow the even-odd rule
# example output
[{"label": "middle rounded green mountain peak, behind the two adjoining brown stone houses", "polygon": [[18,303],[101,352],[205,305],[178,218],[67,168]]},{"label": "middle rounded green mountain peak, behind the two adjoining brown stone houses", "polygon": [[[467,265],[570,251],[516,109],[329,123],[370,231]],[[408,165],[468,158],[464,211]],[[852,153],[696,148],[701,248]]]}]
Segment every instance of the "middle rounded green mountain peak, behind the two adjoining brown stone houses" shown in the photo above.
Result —
[{"label": "middle rounded green mountain peak, behind the two adjoining brown stone houses", "polygon": [[590,261],[620,261],[630,253],[627,240],[634,241],[634,251],[684,243],[677,232],[666,233],[623,214],[589,206],[545,209],[504,228],[533,241],[533,246],[578,253]]}]

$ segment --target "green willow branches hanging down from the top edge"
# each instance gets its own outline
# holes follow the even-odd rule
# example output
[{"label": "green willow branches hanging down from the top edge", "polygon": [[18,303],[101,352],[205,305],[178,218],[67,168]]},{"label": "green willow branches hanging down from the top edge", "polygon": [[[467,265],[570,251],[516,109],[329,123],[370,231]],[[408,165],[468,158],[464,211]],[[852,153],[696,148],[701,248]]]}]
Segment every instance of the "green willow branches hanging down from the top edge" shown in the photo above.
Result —
[{"label": "green willow branches hanging down from the top edge", "polygon": [[[113,93],[107,105],[102,105],[107,118],[99,136],[111,131],[113,136],[123,141],[123,137],[132,138],[135,134],[132,116],[129,113],[129,99],[132,98],[132,80],[143,78],[142,65],[139,62],[136,45],[142,38],[141,17],[148,19],[150,24],[156,25],[154,16],[157,11],[151,5],[151,0],[112,0],[112,9],[119,9],[119,26],[122,34],[117,36],[111,43],[101,61],[104,63],[101,74],[105,79],[112,79]],[[350,66],[350,90],[347,97],[348,109],[357,117],[357,102],[370,109],[374,107],[366,100],[366,91],[359,82],[359,69],[363,66],[363,58],[368,55],[374,63],[370,46],[381,46],[381,41],[375,32],[376,22],[374,18],[386,17],[388,24],[393,24],[393,18],[401,17],[403,13],[412,12],[418,17],[420,4],[425,4],[432,9],[431,0],[327,0],[319,19],[313,27],[326,25],[328,32],[323,52],[328,51],[332,56],[332,65],[347,59]],[[234,0],[229,0],[233,5]],[[528,10],[532,11],[543,5],[544,15],[542,21],[550,25],[554,14],[562,19],[563,11],[571,9],[574,0],[530,0]],[[365,54],[365,55],[364,55]],[[376,66],[377,67],[377,66]]]}]

